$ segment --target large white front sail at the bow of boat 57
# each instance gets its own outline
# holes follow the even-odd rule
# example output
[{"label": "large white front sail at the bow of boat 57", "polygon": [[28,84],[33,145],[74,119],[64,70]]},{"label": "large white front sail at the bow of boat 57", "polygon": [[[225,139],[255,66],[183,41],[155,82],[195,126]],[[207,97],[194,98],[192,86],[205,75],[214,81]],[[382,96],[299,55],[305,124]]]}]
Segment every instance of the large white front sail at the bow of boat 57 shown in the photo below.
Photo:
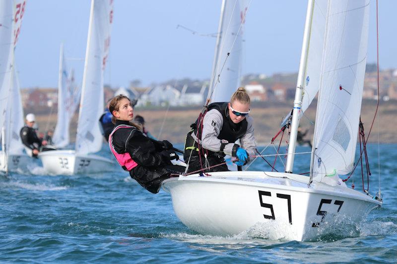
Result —
[{"label": "large white front sail at the bow of boat 57", "polygon": [[[368,42],[369,0],[329,1],[312,163],[316,179],[353,168]],[[315,149],[317,148],[317,149]]]}]

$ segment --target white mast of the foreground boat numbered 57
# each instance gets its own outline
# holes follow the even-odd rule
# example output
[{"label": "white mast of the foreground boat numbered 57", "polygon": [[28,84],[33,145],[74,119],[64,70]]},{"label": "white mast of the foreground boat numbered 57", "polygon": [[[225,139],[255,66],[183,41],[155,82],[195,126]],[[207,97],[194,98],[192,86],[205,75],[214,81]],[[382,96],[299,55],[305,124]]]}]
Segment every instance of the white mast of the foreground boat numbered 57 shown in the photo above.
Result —
[{"label": "white mast of the foreground boat numbered 57", "polygon": [[307,66],[307,56],[309,51],[310,32],[313,19],[314,0],[309,0],[306,12],[305,31],[303,33],[302,52],[299,62],[298,79],[296,82],[294,108],[292,110],[291,132],[289,135],[288,155],[285,164],[285,172],[292,173],[294,165],[294,153],[296,147],[296,136],[298,134],[299,117],[302,107],[302,91],[305,84],[305,73]]}]

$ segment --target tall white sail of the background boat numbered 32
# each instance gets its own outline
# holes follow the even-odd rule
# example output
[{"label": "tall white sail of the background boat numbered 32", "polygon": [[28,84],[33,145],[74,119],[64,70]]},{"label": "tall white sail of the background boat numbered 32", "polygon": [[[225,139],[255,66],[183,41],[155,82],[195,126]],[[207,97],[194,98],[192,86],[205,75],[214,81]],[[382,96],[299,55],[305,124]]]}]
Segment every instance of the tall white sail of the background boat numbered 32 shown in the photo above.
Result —
[{"label": "tall white sail of the background boat numbered 32", "polygon": [[76,153],[100,151],[99,118],[104,107],[103,72],[110,46],[113,0],[92,0],[77,124]]}]

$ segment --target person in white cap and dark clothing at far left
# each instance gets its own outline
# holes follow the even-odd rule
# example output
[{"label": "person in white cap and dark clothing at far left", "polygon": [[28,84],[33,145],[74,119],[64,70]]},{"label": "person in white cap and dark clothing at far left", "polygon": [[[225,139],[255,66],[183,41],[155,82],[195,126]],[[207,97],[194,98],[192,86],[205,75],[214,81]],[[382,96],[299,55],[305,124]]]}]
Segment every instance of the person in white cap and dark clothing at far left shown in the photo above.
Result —
[{"label": "person in white cap and dark clothing at far left", "polygon": [[36,116],[32,113],[26,115],[26,124],[21,128],[20,136],[23,145],[26,147],[26,152],[29,156],[37,157],[42,146],[47,145],[46,140],[39,139],[34,129]]}]

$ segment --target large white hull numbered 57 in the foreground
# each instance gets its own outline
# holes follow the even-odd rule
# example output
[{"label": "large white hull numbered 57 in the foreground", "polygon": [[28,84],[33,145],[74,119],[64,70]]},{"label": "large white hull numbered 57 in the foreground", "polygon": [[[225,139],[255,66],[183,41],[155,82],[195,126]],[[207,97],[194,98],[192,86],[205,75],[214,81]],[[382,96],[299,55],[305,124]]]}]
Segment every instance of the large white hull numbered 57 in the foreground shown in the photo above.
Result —
[{"label": "large white hull numbered 57 in the foreground", "polygon": [[[363,221],[381,202],[342,186],[313,183],[296,174],[228,171],[165,180],[175,213],[189,228],[236,235],[259,224],[272,239],[311,240],[332,219]],[[287,178],[288,177],[288,178]],[[262,226],[262,227],[261,227]]]}]

